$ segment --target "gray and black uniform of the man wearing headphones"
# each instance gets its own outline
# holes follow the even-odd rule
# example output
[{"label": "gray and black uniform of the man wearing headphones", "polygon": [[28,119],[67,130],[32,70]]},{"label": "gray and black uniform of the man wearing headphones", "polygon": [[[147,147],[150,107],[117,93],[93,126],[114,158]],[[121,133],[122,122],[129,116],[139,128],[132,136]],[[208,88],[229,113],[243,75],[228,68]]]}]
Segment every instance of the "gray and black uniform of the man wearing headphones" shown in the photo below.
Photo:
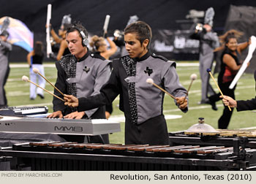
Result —
[{"label": "gray and black uniform of the man wearing headphones", "polygon": [[[78,98],[84,96],[96,95],[100,88],[110,77],[110,62],[105,61],[99,55],[94,55],[89,51],[80,60],[74,55],[65,55],[60,61],[56,62],[58,77],[56,80],[56,88],[62,93],[71,94]],[[61,94],[54,90],[57,96]],[[61,110],[63,115],[76,112],[76,108],[67,107],[64,102],[53,97],[53,111]],[[105,107],[86,110],[83,118],[105,119]],[[83,142],[83,136],[62,136],[67,141]],[[104,143],[108,143],[108,134],[102,135]],[[73,139],[74,138],[74,139]],[[89,137],[89,142],[101,142],[100,137]]]}]

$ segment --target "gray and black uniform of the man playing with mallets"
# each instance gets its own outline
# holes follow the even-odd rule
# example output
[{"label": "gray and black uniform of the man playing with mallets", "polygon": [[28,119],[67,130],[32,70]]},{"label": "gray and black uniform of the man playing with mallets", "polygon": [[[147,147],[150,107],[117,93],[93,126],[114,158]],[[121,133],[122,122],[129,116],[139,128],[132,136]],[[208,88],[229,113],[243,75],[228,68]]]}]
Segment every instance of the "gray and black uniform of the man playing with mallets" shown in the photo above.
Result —
[{"label": "gray and black uniform of the man playing with mallets", "polygon": [[78,111],[110,104],[119,94],[119,108],[125,115],[125,144],[168,145],[163,115],[165,93],[148,85],[146,80],[153,79],[173,96],[185,96],[187,91],[179,83],[175,67],[175,62],[150,52],[142,58],[126,55],[114,60],[108,83],[100,94],[80,98]]}]

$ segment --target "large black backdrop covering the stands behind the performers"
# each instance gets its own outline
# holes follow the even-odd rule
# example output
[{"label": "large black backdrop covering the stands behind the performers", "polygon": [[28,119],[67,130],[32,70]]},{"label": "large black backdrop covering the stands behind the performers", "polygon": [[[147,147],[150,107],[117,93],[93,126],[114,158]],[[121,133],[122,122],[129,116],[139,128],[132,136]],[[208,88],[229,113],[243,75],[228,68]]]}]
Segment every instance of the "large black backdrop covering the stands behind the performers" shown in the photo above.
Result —
[{"label": "large black backdrop covering the stands behind the performers", "polygon": [[[58,31],[62,17],[67,14],[72,15],[72,20],[80,20],[90,34],[101,34],[105,15],[107,14],[111,16],[108,27],[110,34],[115,29],[123,29],[127,25],[129,16],[138,15],[140,20],[146,21],[152,27],[153,39],[159,39],[160,41],[166,37],[162,37],[162,35],[165,35],[162,34],[163,32],[170,37],[176,37],[176,34],[180,34],[177,30],[182,31],[184,25],[178,23],[178,20],[185,20],[190,9],[205,11],[208,7],[214,7],[214,30],[221,34],[225,28],[230,4],[256,7],[256,1],[252,0],[1,0],[0,18],[10,16],[23,21],[34,32],[34,40],[44,42],[48,4],[52,4],[51,23],[56,31]],[[186,35],[184,37],[187,37]],[[170,45],[168,46],[168,42],[172,42],[171,39],[165,40],[165,45],[167,45],[164,48],[165,50],[171,49]],[[191,46],[192,41],[186,42],[187,45],[189,43]],[[154,47],[154,44],[152,47]],[[167,58],[197,59],[193,55],[197,53],[197,48],[191,47],[189,50],[189,53],[184,50],[158,51],[157,53],[165,55]],[[15,47],[10,61],[25,61],[26,54],[25,50]]]}]

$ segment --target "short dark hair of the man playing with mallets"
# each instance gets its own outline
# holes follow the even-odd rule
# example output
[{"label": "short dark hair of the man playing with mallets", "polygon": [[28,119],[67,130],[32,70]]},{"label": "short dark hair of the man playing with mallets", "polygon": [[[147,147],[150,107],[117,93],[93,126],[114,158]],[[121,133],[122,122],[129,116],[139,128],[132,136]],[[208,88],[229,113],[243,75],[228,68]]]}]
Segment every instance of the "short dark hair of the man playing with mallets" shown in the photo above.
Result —
[{"label": "short dark hair of the man playing with mallets", "polygon": [[148,45],[147,49],[150,45],[151,38],[152,38],[152,31],[151,27],[143,22],[143,21],[137,21],[135,23],[129,24],[126,28],[124,28],[124,35],[129,33],[135,33],[138,35],[138,40],[140,41],[140,44],[143,44],[143,41],[145,39],[148,39]]}]

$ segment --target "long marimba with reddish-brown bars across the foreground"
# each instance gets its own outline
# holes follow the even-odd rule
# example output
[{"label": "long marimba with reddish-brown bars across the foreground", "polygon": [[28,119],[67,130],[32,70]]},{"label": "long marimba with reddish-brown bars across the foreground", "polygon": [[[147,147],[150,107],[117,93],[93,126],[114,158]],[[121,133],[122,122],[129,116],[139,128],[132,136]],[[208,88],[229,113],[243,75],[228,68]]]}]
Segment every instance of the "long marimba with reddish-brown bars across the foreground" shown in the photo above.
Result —
[{"label": "long marimba with reddish-brown bars across the foreground", "polygon": [[31,170],[255,170],[253,148],[200,145],[102,145],[31,142],[0,150],[15,169]]}]

